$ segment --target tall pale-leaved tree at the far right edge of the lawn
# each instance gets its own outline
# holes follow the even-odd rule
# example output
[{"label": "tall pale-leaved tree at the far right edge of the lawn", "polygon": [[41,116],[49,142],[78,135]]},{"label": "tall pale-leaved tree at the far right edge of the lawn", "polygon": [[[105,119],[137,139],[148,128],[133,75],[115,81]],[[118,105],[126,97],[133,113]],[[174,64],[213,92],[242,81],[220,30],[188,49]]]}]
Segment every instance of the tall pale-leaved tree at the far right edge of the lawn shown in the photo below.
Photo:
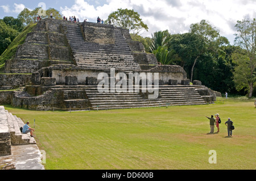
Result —
[{"label": "tall pale-leaved tree at the far right edge of the lawn", "polygon": [[243,19],[237,21],[235,27],[237,29],[235,43],[246,50],[246,55],[237,53],[233,55],[234,60],[237,61],[234,80],[238,90],[247,87],[249,98],[251,98],[253,96],[253,85],[256,81],[256,20]]}]

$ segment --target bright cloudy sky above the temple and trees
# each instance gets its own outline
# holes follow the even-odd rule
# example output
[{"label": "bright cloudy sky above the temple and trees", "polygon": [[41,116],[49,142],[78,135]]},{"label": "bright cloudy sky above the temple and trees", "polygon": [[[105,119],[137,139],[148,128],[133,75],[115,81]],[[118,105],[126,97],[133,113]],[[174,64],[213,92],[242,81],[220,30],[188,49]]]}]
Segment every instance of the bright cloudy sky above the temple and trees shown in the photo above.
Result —
[{"label": "bright cloudy sky above the temple and trees", "polygon": [[120,8],[134,10],[148,26],[148,32],[141,34],[143,37],[164,30],[171,34],[186,33],[192,23],[205,19],[230,44],[234,43],[237,20],[256,18],[256,0],[8,0],[0,1],[0,19],[16,18],[25,7],[34,10],[42,5],[89,22],[96,22],[98,16],[105,20]]}]

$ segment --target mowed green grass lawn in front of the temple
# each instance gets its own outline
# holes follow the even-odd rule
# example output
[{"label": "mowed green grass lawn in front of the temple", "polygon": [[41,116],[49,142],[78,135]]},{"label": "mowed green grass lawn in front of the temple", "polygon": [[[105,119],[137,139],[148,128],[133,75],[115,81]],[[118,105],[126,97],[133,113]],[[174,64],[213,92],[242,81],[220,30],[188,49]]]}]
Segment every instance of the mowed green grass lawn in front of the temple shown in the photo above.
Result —
[{"label": "mowed green grass lawn in front of the temple", "polygon": [[[222,99],[201,106],[108,111],[29,111],[6,106],[35,124],[46,169],[255,169],[254,100]],[[219,113],[220,133],[208,134]],[[227,137],[225,121],[235,130]],[[216,132],[217,129],[214,130]],[[210,164],[210,150],[217,163]]]}]

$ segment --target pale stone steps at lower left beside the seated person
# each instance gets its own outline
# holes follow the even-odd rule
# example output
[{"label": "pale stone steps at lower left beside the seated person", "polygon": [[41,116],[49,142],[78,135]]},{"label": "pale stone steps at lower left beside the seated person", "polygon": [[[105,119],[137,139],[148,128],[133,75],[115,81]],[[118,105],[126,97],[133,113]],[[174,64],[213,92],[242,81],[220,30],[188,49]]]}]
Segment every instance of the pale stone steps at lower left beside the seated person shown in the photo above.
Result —
[{"label": "pale stone steps at lower left beside the seated person", "polygon": [[11,145],[36,144],[35,138],[30,137],[30,133],[23,134],[20,132],[19,128],[24,126],[23,121],[19,117],[8,112],[7,110],[5,110],[5,112],[10,132]]}]

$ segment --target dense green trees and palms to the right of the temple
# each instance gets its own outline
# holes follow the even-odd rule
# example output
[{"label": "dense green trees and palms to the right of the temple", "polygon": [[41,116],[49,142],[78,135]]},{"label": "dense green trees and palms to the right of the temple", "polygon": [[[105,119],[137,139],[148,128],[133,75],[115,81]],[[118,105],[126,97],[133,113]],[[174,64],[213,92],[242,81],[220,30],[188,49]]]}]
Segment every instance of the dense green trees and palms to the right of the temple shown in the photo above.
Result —
[{"label": "dense green trees and palms to the right of the temple", "polygon": [[166,30],[151,38],[132,38],[154,53],[159,63],[182,66],[191,82],[197,79],[210,89],[251,97],[256,87],[255,24],[255,20],[238,21],[236,45],[206,20],[191,24],[188,33],[172,35]]}]

